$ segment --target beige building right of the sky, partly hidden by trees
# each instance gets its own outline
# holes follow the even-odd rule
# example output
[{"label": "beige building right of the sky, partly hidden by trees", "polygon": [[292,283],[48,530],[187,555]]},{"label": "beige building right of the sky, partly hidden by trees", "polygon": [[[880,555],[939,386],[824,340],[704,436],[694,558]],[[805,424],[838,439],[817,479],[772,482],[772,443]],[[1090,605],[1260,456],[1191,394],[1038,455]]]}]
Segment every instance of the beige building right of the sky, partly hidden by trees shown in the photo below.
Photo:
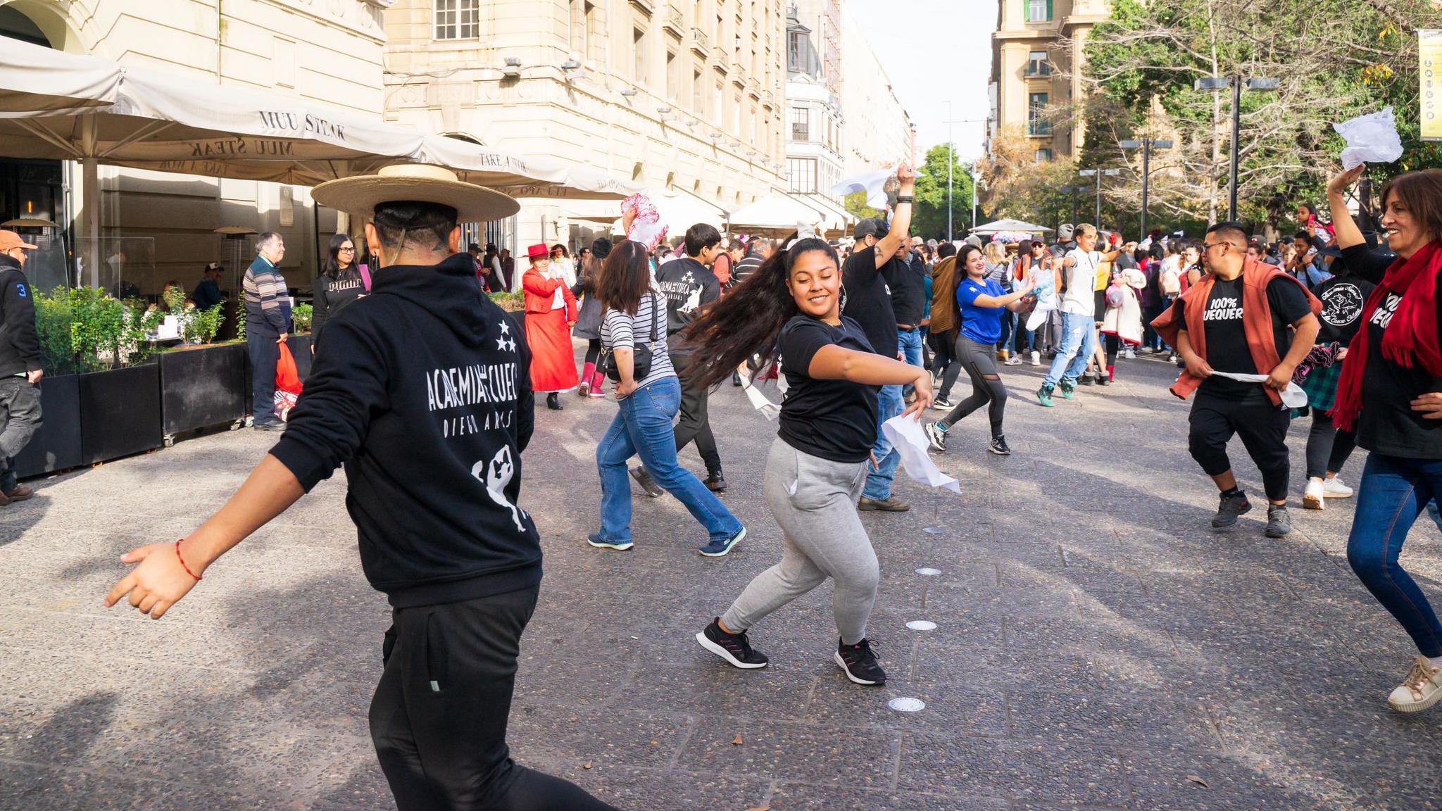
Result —
[{"label": "beige building right of the sky, partly hidden by trees", "polygon": [[1110,13],[1106,0],[1007,0],[992,35],[991,134],[1019,126],[1038,162],[1074,157],[1082,133],[1054,124],[1048,110],[1082,95],[1082,51]]}]

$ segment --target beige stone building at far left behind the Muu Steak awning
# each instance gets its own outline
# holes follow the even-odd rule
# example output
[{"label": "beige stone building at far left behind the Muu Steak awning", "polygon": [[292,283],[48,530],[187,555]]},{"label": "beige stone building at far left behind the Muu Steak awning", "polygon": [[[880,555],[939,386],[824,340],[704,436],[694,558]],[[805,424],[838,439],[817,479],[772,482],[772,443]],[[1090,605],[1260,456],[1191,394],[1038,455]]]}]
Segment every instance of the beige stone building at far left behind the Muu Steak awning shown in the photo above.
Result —
[{"label": "beige stone building at far left behind the Muu Steak awning", "polygon": [[[222,88],[296,94],[322,108],[378,120],[385,4],[12,0],[0,1],[0,36],[193,76]],[[213,234],[225,225],[280,231],[288,245],[283,264],[287,280],[306,289],[316,273],[317,245],[335,229],[335,212],[317,212],[304,186],[112,166],[101,166],[99,172],[102,199],[85,201],[78,165],[6,159],[0,143],[0,221],[40,216],[78,235],[81,229],[74,224],[81,209],[99,205],[102,240],[121,240],[115,244],[124,245],[105,253],[127,254],[121,263],[124,280],[143,294],[159,293],[170,279],[189,290],[205,263],[226,261],[224,242]],[[222,280],[222,287],[229,286]]]}]

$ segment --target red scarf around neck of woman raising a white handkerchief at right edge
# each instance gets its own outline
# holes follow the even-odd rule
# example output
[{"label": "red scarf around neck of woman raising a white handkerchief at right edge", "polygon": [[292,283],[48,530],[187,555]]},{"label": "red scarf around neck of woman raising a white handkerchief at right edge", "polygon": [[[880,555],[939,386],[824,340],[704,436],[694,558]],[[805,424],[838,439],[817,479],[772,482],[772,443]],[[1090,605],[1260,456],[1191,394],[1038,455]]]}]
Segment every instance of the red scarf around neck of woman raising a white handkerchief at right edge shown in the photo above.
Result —
[{"label": "red scarf around neck of woman raising a white handkerchief at right edge", "polygon": [[1381,355],[1399,367],[1422,368],[1435,377],[1442,377],[1442,349],[1438,345],[1438,273],[1442,271],[1442,247],[1428,242],[1412,258],[1392,263],[1381,284],[1371,291],[1361,313],[1361,329],[1347,348],[1343,361],[1343,375],[1337,385],[1337,404],[1332,407],[1332,421],[1341,430],[1353,430],[1357,414],[1361,413],[1363,374],[1367,355],[1371,354],[1371,316],[1387,300],[1389,294],[1400,294],[1397,310],[1381,336]]}]

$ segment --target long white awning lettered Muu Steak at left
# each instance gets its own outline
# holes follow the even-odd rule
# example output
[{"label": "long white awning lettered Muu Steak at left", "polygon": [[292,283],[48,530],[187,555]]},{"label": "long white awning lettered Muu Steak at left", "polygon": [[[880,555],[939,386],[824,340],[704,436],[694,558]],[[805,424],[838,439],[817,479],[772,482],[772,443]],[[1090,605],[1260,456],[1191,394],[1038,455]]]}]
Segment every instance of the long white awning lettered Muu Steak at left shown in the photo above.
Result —
[{"label": "long white awning lettered Muu Steak at left", "polygon": [[[114,81],[112,81],[114,79]],[[29,104],[29,107],[26,107]],[[6,40],[0,152],[84,165],[84,235],[99,235],[98,165],[314,185],[388,163],[437,163],[519,196],[626,196],[587,169],[534,163],[278,92],[215,85]]]}]

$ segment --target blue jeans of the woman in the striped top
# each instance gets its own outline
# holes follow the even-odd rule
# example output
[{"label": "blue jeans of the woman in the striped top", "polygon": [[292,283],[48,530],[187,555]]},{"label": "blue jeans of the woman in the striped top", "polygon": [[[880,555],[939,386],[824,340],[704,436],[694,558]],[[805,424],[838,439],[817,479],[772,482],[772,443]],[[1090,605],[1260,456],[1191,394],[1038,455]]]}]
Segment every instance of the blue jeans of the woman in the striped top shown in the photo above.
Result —
[{"label": "blue jeans of the woman in the striped top", "polygon": [[596,446],[596,468],[601,473],[601,538],[629,541],[630,478],[626,460],[640,456],[646,470],[691,515],[707,528],[711,540],[730,538],[741,522],[701,483],[676,463],[676,434],[671,420],[681,410],[681,382],[675,377],[646,384],[620,401],[620,410]]}]

